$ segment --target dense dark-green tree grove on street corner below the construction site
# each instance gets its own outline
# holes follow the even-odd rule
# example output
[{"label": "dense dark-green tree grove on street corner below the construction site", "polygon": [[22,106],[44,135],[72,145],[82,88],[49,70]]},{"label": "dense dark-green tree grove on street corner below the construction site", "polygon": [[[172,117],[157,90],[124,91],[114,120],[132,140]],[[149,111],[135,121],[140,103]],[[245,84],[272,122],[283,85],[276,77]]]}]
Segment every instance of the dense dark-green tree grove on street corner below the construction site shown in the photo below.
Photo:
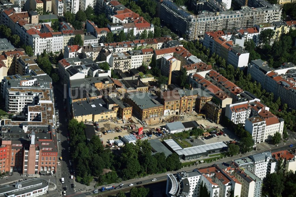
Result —
[{"label": "dense dark-green tree grove on street corner below the construction site", "polygon": [[[121,178],[129,180],[181,168],[175,153],[167,158],[164,153],[152,155],[148,140],[126,144],[120,152],[112,153],[104,149],[98,136],[86,141],[84,128],[83,122],[69,121],[71,157],[76,166],[76,180],[80,183],[89,185],[93,177],[97,177],[100,184],[106,185],[119,182]],[[103,175],[103,169],[111,171]]]}]

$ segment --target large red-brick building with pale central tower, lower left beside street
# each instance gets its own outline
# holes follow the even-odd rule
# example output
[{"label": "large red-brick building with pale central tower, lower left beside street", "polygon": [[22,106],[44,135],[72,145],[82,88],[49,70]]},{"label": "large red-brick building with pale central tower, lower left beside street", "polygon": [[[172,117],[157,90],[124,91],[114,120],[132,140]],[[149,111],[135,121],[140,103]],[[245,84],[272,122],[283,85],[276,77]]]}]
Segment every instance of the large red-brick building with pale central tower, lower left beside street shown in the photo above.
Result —
[{"label": "large red-brick building with pale central tower, lower left beside street", "polygon": [[57,172],[57,136],[54,127],[30,126],[24,122],[20,126],[2,125],[1,130],[1,146],[7,155],[6,162],[1,161],[4,165],[2,172],[19,172],[24,175]]}]

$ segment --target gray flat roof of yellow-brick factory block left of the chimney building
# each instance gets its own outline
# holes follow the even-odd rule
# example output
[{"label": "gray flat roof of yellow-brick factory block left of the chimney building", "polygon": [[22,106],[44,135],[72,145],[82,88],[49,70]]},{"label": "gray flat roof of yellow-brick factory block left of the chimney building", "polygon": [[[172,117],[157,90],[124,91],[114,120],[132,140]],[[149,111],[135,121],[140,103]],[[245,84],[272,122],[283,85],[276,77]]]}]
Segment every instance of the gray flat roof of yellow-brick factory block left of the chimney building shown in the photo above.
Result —
[{"label": "gray flat roof of yellow-brick factory block left of the chimney building", "polygon": [[129,93],[128,98],[131,99],[141,109],[163,106],[158,101],[158,97],[151,93]]}]

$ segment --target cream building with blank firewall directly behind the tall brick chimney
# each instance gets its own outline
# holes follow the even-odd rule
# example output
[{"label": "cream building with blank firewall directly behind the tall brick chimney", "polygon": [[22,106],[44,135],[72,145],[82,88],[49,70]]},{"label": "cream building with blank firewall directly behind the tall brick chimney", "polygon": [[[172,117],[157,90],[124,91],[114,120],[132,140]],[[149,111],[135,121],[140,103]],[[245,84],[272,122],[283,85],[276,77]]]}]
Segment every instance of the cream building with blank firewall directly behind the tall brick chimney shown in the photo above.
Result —
[{"label": "cream building with blank firewall directly behind the tall brick chimney", "polygon": [[170,72],[181,69],[181,61],[171,55],[161,58],[160,70],[161,74],[168,76]]}]

